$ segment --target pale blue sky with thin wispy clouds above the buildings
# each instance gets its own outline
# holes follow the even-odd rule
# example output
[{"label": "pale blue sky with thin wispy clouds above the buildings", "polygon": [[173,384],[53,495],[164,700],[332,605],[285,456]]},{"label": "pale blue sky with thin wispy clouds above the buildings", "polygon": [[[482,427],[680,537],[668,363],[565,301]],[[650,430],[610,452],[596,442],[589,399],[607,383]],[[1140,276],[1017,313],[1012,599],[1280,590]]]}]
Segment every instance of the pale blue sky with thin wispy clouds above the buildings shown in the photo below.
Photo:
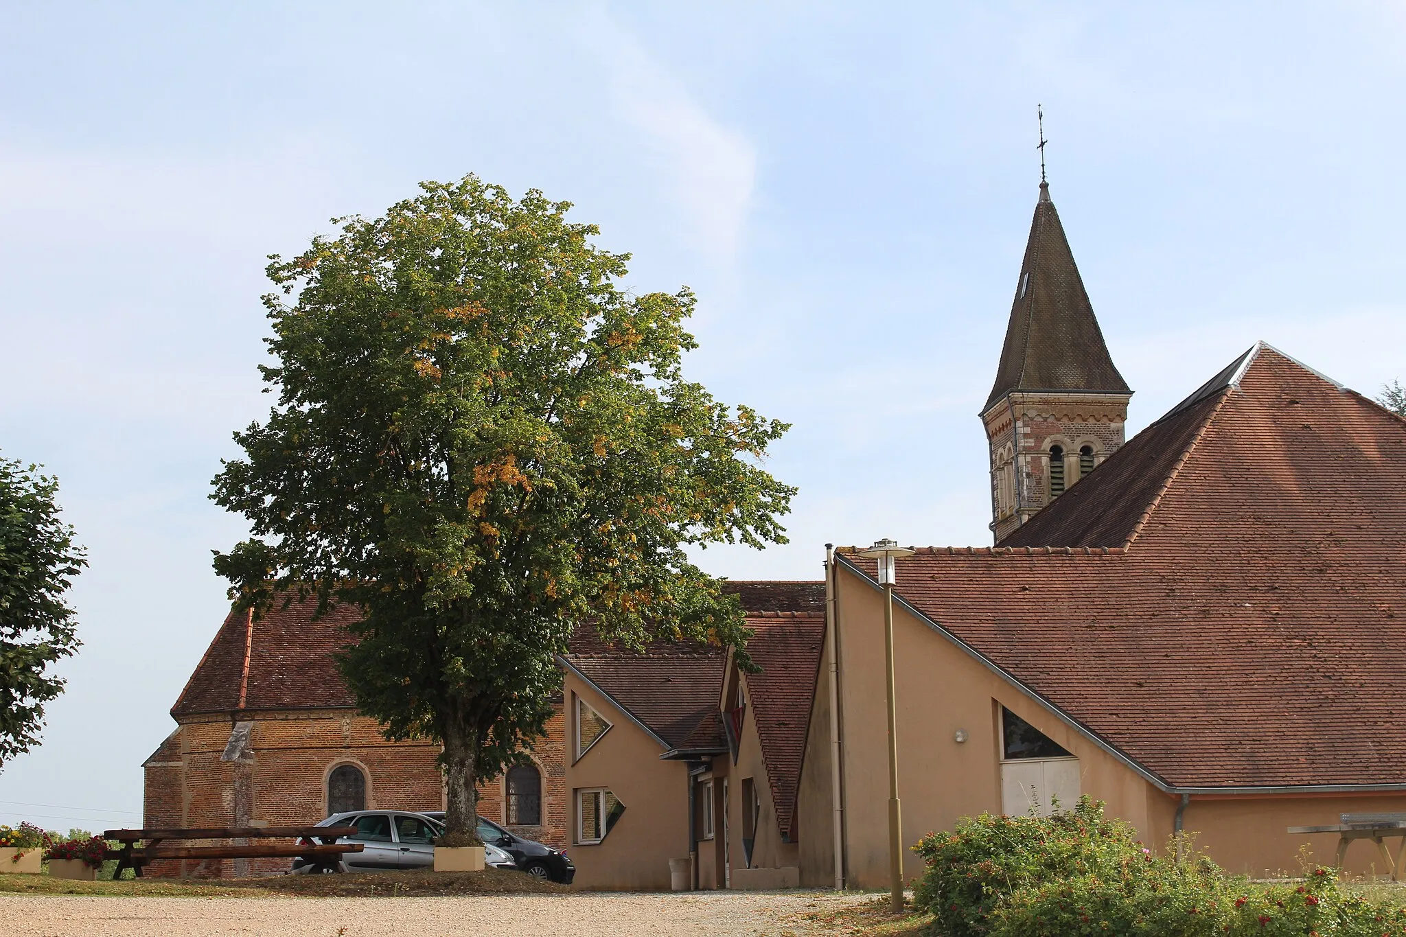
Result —
[{"label": "pale blue sky with thin wispy clouds above the buildings", "polygon": [[990,544],[991,389],[1039,183],[1136,431],[1254,341],[1406,378],[1406,7],[0,1],[0,455],[60,482],[83,649],[0,823],[141,820],[226,608],[208,500],[269,406],[269,254],[477,173],[575,204],[686,374],[793,428],[790,542]]}]

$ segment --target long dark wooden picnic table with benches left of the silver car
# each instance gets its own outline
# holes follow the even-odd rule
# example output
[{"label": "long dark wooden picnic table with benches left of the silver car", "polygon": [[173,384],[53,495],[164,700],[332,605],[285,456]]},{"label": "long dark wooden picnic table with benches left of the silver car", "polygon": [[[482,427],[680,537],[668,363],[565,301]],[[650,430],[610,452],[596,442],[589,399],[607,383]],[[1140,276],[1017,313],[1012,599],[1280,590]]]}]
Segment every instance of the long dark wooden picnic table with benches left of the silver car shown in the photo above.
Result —
[{"label": "long dark wooden picnic table with benches left of the silver car", "polygon": [[[347,853],[360,853],[360,843],[330,843],[339,836],[354,836],[354,826],[211,826],[202,829],[105,830],[104,839],[122,843],[110,848],[104,858],[115,858],[112,878],[121,878],[131,868],[138,878],[142,867],[156,858],[302,858],[318,871],[332,868]],[[233,839],[294,839],[298,843],[243,843],[232,846],[165,844],[169,840],[233,840]],[[319,843],[318,840],[323,840]],[[138,846],[145,841],[146,846]]]}]

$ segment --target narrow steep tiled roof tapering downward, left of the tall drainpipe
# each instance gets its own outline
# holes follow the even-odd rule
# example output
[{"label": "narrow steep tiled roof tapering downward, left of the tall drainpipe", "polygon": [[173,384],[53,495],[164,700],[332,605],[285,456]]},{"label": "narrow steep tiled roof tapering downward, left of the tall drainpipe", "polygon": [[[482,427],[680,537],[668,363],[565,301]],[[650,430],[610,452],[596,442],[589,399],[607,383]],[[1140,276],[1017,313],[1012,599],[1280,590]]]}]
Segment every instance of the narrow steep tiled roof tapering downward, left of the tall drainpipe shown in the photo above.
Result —
[{"label": "narrow steep tiled roof tapering downward, left of the tall drainpipe", "polygon": [[825,615],[823,611],[779,612],[748,617],[747,624],[754,631],[747,650],[752,663],[762,669],[747,674],[747,687],[776,806],[776,826],[796,841],[796,791],[820,674]]}]

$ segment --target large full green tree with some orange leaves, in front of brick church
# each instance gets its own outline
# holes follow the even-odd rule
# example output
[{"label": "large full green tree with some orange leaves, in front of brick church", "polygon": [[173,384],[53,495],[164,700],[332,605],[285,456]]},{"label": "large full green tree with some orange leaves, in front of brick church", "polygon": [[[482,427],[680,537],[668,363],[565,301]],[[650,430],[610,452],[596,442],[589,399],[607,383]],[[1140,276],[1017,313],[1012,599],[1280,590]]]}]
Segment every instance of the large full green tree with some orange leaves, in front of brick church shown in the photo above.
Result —
[{"label": "large full green tree with some orange leaves, in front of brick church", "polygon": [[253,534],[215,566],[254,607],[361,607],[343,674],[389,738],[443,745],[465,844],[475,780],[541,735],[578,622],[745,643],[685,551],[783,542],[794,489],[761,468],[785,424],[683,379],[688,289],[623,289],[628,256],[537,191],[422,190],[271,257],[278,403],[215,479]]}]

